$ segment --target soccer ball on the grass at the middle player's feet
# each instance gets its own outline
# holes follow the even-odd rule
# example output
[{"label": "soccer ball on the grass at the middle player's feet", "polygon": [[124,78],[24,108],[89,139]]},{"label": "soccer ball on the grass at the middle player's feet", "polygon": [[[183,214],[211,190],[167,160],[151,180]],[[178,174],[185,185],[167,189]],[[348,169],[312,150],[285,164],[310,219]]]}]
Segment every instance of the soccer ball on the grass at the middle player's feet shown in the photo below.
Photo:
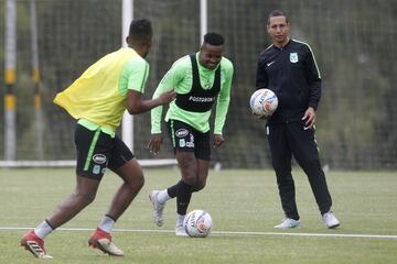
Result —
[{"label": "soccer ball on the grass at the middle player's feet", "polygon": [[205,238],[211,233],[212,218],[204,210],[193,210],[183,221],[185,232],[191,238]]}]

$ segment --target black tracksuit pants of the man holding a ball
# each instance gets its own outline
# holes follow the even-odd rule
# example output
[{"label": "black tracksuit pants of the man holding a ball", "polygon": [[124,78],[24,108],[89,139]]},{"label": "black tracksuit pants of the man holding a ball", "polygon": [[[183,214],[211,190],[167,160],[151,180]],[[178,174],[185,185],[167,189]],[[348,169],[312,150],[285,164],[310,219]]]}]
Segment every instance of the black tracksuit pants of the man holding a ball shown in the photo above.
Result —
[{"label": "black tracksuit pants of the man holding a ball", "polygon": [[294,183],[291,174],[292,155],[308,175],[321,215],[328,212],[332,199],[321,168],[314,129],[304,130],[304,122],[267,124],[272,166],[282,209],[287,218],[299,219]]}]

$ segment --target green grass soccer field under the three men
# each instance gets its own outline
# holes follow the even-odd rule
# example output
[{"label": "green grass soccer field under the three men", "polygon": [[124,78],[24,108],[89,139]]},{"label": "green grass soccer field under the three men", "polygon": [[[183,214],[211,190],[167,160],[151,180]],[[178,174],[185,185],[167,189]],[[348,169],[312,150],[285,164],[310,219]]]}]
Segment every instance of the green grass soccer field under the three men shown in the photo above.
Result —
[{"label": "green grass soccer field under the three men", "polygon": [[[175,201],[164,227],[152,223],[148,194],[178,180],[173,168],[144,169],[146,185],[114,231],[124,257],[88,248],[87,240],[120,185],[107,173],[97,198],[71,222],[49,235],[51,263],[397,263],[396,173],[328,174],[337,230],[323,226],[305,175],[296,169],[302,228],[278,231],[282,218],[270,170],[210,172],[206,188],[193,195],[192,209],[207,210],[208,238],[178,238]],[[47,217],[74,189],[73,168],[0,169],[0,263],[40,263],[19,246],[21,237]]]}]

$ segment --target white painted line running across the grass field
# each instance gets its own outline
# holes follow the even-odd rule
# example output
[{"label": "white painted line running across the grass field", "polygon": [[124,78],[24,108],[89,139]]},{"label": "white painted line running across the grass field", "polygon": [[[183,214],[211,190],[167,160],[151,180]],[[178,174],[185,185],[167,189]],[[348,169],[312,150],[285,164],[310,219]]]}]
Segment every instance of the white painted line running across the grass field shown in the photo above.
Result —
[{"label": "white painted line running across the grass field", "polygon": [[[33,228],[0,227],[1,230],[31,230]],[[95,229],[84,228],[58,228],[60,231],[94,231]],[[146,232],[146,233],[173,233],[174,230],[157,229],[114,229],[114,232]],[[281,237],[323,237],[323,238],[355,238],[355,239],[386,239],[397,240],[397,235],[387,234],[344,234],[344,233],[283,233],[283,232],[234,232],[234,231],[213,231],[213,235],[281,235]]]}]

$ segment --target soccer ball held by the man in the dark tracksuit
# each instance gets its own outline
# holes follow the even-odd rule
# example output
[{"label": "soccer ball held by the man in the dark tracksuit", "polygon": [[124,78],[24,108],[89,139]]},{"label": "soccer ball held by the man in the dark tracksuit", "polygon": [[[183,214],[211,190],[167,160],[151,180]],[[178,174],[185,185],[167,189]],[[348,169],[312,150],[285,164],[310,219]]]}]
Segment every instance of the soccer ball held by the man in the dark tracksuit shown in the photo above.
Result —
[{"label": "soccer ball held by the man in the dark tracksuit", "polygon": [[262,88],[253,94],[249,105],[255,114],[269,118],[278,107],[278,99],[272,90]]}]

